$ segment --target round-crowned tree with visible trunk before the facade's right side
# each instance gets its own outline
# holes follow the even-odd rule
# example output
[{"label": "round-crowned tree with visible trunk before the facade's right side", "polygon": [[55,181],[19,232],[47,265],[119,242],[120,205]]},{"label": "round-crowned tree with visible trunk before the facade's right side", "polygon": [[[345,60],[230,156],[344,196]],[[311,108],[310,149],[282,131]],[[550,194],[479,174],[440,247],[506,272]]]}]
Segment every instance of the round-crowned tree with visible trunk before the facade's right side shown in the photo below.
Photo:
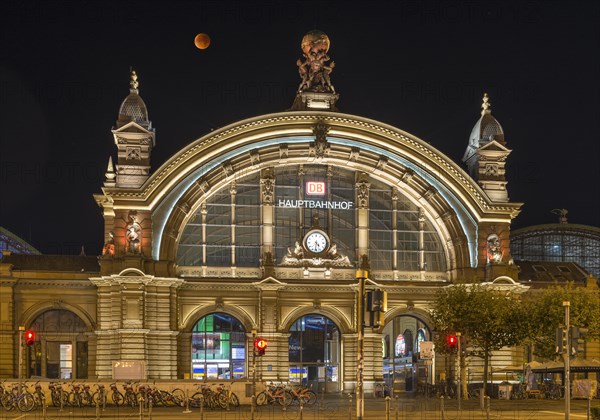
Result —
[{"label": "round-crowned tree with visible trunk before the facade's right side", "polygon": [[[443,335],[461,332],[470,354],[483,359],[484,392],[492,352],[520,344],[527,335],[520,294],[512,288],[448,286],[436,296],[431,318],[434,328]],[[462,377],[464,390],[466,378]]]}]

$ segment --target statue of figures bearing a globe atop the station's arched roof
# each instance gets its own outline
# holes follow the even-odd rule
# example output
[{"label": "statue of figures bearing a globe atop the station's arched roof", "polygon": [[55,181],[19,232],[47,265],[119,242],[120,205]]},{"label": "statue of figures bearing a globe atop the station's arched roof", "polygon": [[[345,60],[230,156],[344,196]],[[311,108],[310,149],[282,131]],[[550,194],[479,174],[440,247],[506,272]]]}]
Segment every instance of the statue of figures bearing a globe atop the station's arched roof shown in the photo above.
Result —
[{"label": "statue of figures bearing a globe atop the station's arched roof", "polygon": [[331,60],[327,55],[329,45],[329,37],[318,30],[310,31],[302,38],[301,48],[304,61],[299,59],[296,62],[300,79],[302,79],[298,86],[298,92],[335,93],[335,88],[329,78],[335,63],[332,61],[331,64],[326,64]]}]

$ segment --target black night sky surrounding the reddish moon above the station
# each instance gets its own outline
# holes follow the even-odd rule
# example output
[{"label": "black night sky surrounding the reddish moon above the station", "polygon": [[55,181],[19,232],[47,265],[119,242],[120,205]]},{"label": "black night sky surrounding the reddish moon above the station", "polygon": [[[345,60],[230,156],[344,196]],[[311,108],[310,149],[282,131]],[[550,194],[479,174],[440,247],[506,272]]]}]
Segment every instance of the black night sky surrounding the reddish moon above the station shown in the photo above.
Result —
[{"label": "black night sky surrounding the reddish moon above the station", "polygon": [[[43,253],[97,255],[111,128],[129,68],[153,168],[237,120],[288,109],[311,29],[329,35],[341,112],[460,161],[489,93],[513,227],[600,226],[600,2],[8,1],[0,6],[0,226]],[[355,6],[352,6],[355,5]],[[195,48],[208,33],[211,46]]]}]

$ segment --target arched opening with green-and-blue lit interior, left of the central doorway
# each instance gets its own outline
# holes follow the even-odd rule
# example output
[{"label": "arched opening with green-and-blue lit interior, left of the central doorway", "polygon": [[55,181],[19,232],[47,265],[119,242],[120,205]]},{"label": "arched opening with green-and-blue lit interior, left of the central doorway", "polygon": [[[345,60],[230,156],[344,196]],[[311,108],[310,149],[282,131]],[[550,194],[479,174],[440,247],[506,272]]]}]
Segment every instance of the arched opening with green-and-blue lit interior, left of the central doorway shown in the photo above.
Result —
[{"label": "arched opening with green-and-blue lit interior, left of the central doorway", "polygon": [[240,379],[246,375],[246,330],[235,317],[215,312],[192,328],[192,378]]}]

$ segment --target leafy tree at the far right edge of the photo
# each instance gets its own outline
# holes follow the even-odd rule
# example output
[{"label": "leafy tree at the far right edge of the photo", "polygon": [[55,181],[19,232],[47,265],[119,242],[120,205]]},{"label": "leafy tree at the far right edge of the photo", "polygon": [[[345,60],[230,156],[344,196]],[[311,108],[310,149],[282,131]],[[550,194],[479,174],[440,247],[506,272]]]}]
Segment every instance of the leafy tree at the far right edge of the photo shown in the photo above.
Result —
[{"label": "leafy tree at the far right edge of the photo", "polygon": [[576,287],[572,282],[526,293],[527,335],[534,354],[544,359],[557,357],[555,333],[565,323],[565,301],[570,302],[570,324],[587,328],[589,339],[600,338],[599,294],[597,286]]}]

